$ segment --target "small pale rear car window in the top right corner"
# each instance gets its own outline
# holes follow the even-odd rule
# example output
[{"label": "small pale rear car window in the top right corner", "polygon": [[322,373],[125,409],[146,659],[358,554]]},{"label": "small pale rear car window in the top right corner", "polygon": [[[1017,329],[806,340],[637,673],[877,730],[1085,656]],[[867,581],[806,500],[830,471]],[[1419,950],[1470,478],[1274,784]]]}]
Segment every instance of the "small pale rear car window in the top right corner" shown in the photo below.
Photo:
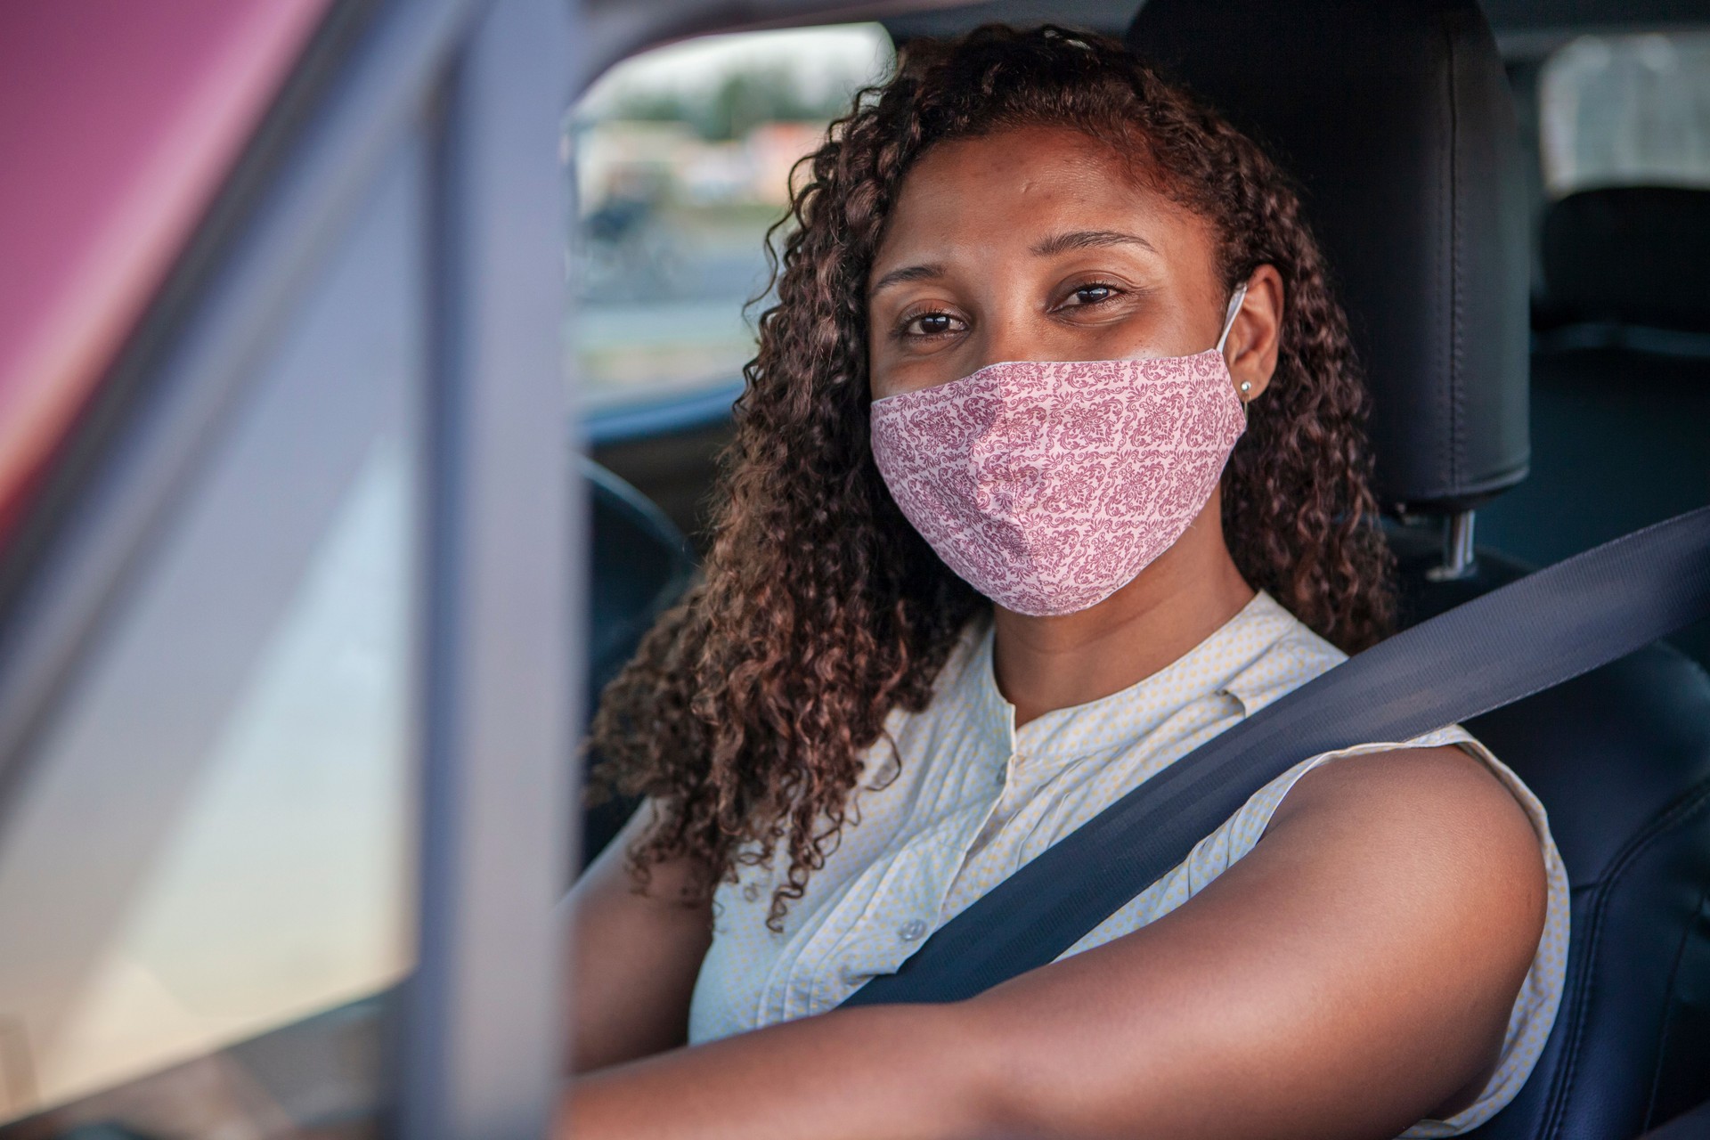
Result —
[{"label": "small pale rear car window in the top right corner", "polygon": [[1580,36],[1539,75],[1544,188],[1710,186],[1710,32]]}]

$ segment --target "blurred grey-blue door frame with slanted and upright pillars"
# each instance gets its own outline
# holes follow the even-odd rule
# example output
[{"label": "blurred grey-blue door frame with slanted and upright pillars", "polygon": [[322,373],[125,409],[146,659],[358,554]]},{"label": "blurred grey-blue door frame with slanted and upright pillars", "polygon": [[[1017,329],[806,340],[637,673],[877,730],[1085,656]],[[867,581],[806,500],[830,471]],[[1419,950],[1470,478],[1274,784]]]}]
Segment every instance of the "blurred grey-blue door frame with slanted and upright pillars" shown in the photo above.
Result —
[{"label": "blurred grey-blue door frame with slanted and upright pillars", "polygon": [[428,132],[419,926],[392,1133],[540,1137],[556,1114],[587,537],[563,431],[561,115],[667,39],[918,7],[935,5],[335,0],[0,550],[3,829],[256,362],[386,154]]}]

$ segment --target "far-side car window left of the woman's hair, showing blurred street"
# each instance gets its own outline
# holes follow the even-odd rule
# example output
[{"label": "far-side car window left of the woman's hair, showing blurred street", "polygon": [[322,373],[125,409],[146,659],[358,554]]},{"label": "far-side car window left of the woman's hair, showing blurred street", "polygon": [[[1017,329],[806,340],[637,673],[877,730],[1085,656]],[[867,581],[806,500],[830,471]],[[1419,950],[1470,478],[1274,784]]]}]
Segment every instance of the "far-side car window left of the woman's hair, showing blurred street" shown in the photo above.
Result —
[{"label": "far-side car window left of the woman's hair, showing blurred street", "polygon": [[877,24],[710,36],[607,72],[571,109],[583,405],[705,395],[754,356],[744,314],[790,167],[891,65]]}]

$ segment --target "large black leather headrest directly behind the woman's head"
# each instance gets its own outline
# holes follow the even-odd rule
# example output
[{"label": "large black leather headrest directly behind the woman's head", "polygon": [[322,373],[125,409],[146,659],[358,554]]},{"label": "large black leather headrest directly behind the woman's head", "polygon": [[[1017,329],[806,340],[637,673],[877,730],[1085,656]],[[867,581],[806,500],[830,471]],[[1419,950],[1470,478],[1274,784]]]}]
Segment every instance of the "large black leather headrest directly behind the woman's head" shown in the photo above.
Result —
[{"label": "large black leather headrest directly behind the woman's head", "polygon": [[1371,388],[1385,508],[1525,477],[1518,132],[1472,0],[1149,0],[1129,31],[1301,185]]}]

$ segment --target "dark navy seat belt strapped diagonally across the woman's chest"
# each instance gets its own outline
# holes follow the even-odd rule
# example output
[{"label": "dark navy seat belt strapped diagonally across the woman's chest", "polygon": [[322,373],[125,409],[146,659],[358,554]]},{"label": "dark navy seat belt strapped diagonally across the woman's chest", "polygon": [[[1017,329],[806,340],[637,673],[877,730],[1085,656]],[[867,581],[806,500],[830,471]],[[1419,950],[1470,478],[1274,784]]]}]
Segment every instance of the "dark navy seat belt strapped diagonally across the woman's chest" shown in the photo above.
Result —
[{"label": "dark navy seat belt strapped diagonally across the woman's chest", "polygon": [[1055,961],[1306,757],[1411,740],[1710,615],[1710,508],[1529,574],[1349,658],[1206,742],[940,926],[843,1005],[956,1002]]}]

